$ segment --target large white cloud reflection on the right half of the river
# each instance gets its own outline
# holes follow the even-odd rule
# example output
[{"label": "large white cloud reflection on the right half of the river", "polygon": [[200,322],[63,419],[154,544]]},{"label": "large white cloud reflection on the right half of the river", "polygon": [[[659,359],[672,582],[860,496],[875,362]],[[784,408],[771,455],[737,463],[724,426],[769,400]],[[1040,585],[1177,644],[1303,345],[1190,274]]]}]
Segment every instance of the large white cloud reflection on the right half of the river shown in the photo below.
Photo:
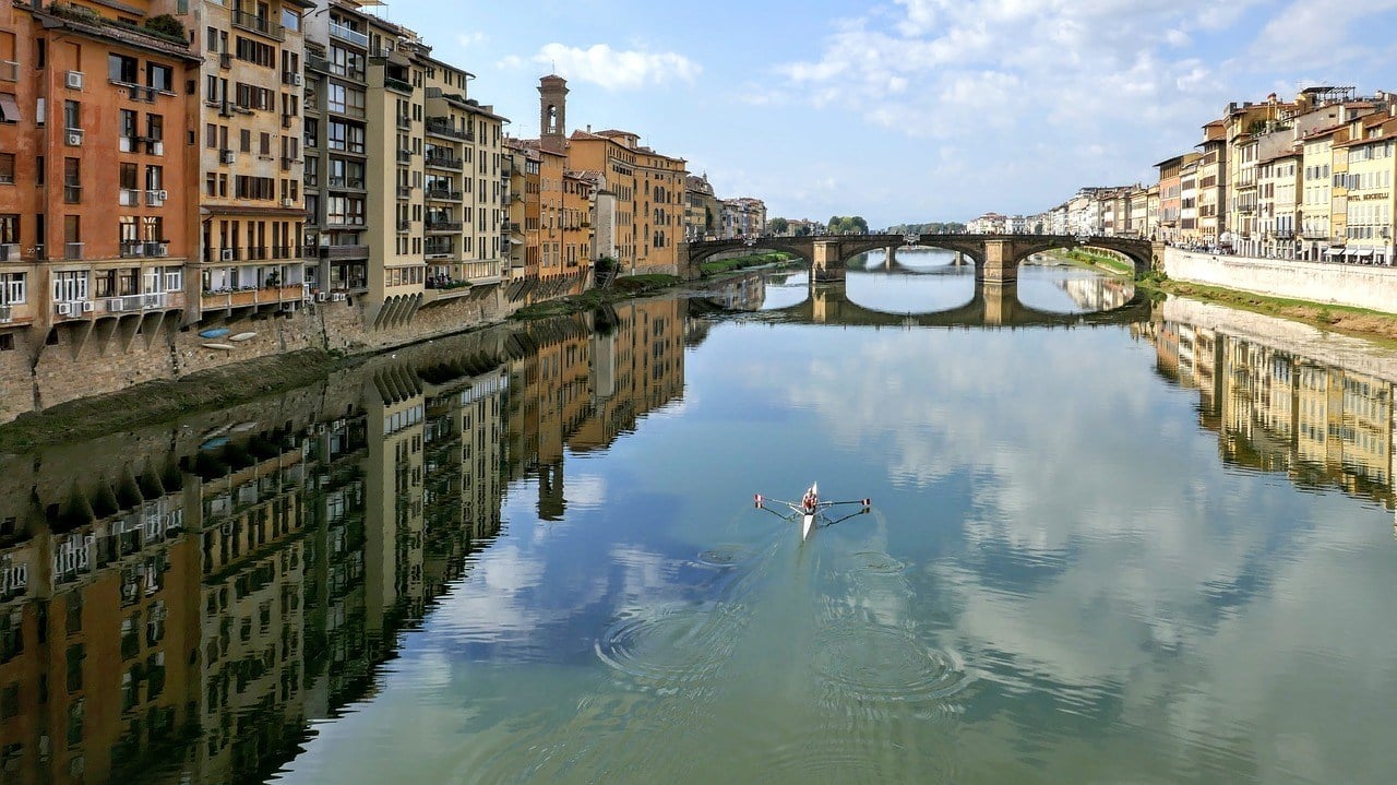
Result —
[{"label": "large white cloud reflection on the right half of the river", "polygon": [[[1263,724],[1295,742],[1282,757],[1298,771],[1350,770],[1333,750],[1356,746],[1343,738],[1352,722],[1317,718],[1393,693],[1397,631],[1368,626],[1391,567],[1377,557],[1386,529],[1365,522],[1386,513],[1221,467],[1215,434],[1183,425],[1196,394],[1161,384],[1153,351],[1126,341],[883,331],[858,352],[821,351],[821,383],[773,394],[880,455],[894,482],[971,478],[965,555],[926,571],[949,587],[957,648],[1003,663],[996,680],[1078,703],[1119,694],[1127,722],[1180,740]],[[1119,365],[1123,351],[1139,362]],[[1355,570],[1363,549],[1375,559]],[[866,602],[895,620],[895,599]],[[1354,680],[1316,676],[1326,658]]]}]

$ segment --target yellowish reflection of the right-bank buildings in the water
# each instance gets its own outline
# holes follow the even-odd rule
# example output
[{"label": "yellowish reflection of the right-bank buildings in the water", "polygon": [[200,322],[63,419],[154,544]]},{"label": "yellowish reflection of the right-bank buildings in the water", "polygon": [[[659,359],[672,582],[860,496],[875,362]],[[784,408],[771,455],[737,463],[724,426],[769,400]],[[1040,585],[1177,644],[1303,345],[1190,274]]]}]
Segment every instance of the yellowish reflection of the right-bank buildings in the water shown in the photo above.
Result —
[{"label": "yellowish reflection of the right-bank buildings in the water", "polygon": [[1153,341],[1160,373],[1199,390],[1225,460],[1397,507],[1393,381],[1179,321]]}]

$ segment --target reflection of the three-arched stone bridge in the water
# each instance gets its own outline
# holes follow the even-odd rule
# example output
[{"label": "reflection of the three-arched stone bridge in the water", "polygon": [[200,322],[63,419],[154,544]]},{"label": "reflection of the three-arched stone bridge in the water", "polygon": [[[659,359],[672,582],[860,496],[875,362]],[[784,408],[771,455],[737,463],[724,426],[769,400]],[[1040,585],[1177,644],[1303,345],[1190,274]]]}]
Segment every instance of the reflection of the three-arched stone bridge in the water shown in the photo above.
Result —
[{"label": "reflection of the three-arched stone bridge in the water", "polygon": [[747,321],[809,324],[847,324],[861,327],[1076,327],[1094,324],[1134,324],[1151,314],[1151,303],[1134,285],[1111,278],[1067,282],[1073,300],[1106,306],[1091,313],[1055,313],[1025,306],[1018,300],[1017,282],[975,279],[970,302],[932,313],[887,313],[849,300],[847,285],[810,284],[809,296],[792,306],[757,310],[766,302],[767,278],[742,275],[724,282],[708,299]]}]

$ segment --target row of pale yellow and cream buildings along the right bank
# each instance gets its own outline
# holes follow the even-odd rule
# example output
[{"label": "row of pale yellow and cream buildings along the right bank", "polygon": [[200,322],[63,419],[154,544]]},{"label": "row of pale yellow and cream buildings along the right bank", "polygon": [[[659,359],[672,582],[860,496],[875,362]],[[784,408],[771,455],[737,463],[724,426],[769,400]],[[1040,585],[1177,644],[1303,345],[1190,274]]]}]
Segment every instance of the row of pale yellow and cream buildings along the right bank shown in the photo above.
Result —
[{"label": "row of pale yellow and cream buildings along the right bank", "polygon": [[986,214],[982,233],[1123,235],[1268,258],[1394,263],[1397,95],[1310,87],[1229,103],[1155,183],[1087,187],[1038,215]]}]

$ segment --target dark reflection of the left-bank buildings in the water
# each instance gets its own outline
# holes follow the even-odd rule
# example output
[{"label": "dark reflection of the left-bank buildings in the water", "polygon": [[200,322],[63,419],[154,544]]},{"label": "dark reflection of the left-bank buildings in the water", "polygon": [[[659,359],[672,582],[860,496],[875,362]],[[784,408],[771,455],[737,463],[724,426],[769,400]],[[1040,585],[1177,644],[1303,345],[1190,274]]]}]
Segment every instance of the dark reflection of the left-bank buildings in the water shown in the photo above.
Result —
[{"label": "dark reflection of the left-bank buildings in the water", "polygon": [[562,514],[564,446],[682,394],[683,307],[436,341],[0,467],[0,781],[268,778],[372,694],[507,482]]}]

